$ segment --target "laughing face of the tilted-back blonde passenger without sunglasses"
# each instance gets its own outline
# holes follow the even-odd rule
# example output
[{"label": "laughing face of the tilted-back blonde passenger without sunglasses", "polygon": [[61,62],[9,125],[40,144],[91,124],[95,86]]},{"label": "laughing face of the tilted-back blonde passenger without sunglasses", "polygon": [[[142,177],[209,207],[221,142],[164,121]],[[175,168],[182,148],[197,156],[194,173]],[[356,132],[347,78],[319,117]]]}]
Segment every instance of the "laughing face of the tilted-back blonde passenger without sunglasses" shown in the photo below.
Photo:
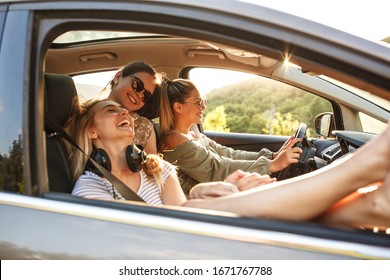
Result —
[{"label": "laughing face of the tilted-back blonde passenger without sunglasses", "polygon": [[88,135],[97,148],[108,143],[125,143],[129,145],[134,138],[134,121],[129,112],[112,100],[97,103],[92,125]]}]

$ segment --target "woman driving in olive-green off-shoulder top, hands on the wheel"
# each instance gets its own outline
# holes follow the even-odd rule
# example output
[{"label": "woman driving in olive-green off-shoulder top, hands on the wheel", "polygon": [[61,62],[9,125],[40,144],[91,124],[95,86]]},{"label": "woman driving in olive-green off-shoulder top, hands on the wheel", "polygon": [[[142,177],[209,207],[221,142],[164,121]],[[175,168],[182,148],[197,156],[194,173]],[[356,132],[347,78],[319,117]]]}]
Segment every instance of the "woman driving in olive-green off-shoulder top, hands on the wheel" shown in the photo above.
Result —
[{"label": "woman driving in olive-green off-shoulder top, hands on the wheel", "polygon": [[293,146],[300,139],[290,138],[276,153],[268,149],[240,151],[216,143],[196,130],[206,101],[195,85],[176,79],[165,82],[162,88],[166,92],[161,94],[159,150],[165,160],[179,168],[186,194],[197,183],[221,181],[239,169],[270,175],[298,162],[302,150]]}]

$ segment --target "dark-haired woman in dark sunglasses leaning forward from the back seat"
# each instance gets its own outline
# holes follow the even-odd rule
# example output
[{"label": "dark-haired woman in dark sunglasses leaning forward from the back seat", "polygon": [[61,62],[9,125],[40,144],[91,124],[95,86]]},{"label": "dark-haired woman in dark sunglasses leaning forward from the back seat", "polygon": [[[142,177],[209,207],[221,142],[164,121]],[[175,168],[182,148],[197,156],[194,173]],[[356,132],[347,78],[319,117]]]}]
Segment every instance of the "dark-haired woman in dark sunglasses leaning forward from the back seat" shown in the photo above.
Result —
[{"label": "dark-haired woman in dark sunglasses leaning forward from the back seat", "polygon": [[[143,61],[133,61],[115,74],[110,81],[109,99],[125,107],[134,119],[134,144],[144,147],[147,153],[157,153],[156,134],[152,122],[138,112],[146,105],[152,104],[156,90],[157,73]],[[150,109],[152,110],[152,109]]]}]

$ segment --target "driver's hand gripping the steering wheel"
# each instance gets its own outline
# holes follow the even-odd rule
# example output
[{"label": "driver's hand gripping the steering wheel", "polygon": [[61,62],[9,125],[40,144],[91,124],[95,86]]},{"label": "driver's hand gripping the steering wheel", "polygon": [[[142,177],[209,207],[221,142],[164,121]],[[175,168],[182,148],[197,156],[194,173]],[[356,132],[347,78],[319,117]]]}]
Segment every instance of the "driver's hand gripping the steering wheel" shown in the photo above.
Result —
[{"label": "driver's hand gripping the steering wheel", "polygon": [[276,155],[275,158],[271,160],[269,166],[271,173],[283,170],[292,163],[298,163],[298,160],[302,154],[302,149],[294,147],[294,145],[300,141],[302,141],[302,139],[294,139],[293,137],[290,137],[283,144],[282,148],[280,148],[280,150],[274,154]]}]

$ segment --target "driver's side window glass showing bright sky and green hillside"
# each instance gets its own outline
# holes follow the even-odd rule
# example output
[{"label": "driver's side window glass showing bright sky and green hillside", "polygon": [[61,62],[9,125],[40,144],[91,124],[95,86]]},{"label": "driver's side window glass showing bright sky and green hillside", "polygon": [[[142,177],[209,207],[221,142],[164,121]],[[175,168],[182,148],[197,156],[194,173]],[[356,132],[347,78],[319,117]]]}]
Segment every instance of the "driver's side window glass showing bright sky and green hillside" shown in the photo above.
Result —
[{"label": "driver's side window glass showing bright sky and green hillside", "polygon": [[194,68],[189,78],[207,99],[205,130],[288,136],[304,122],[314,136],[315,116],[333,111],[324,98],[253,74]]}]

